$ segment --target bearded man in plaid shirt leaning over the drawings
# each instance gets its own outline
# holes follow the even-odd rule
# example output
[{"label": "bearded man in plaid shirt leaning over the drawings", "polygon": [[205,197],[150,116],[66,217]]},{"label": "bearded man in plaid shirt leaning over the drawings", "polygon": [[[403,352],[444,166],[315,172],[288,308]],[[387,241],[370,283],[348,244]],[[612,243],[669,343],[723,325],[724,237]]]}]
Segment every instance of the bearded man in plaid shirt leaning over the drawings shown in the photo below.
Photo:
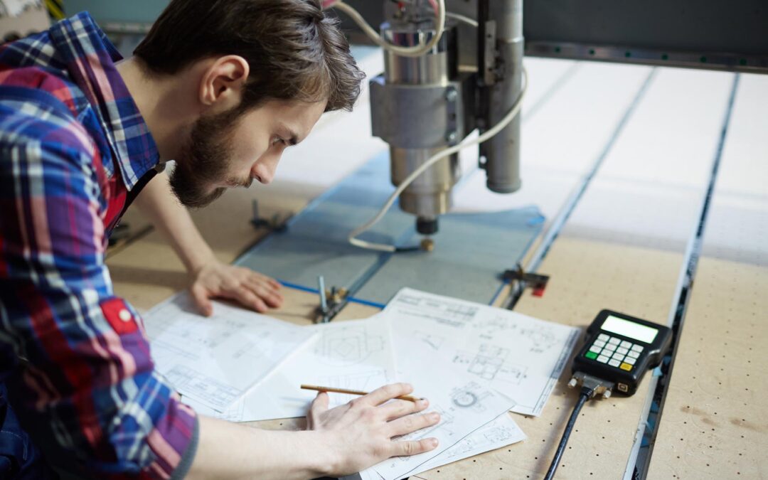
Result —
[{"label": "bearded man in plaid shirt leaning over the drawings", "polygon": [[0,48],[0,476],[313,478],[435,448],[393,440],[439,421],[390,401],[405,384],[330,410],[321,393],[303,432],[197,415],[104,264],[136,200],[201,313],[214,296],[280,306],[274,280],[214,259],[184,206],[270,183],[360,81],[318,0],[173,0],[127,60],[86,13]]}]

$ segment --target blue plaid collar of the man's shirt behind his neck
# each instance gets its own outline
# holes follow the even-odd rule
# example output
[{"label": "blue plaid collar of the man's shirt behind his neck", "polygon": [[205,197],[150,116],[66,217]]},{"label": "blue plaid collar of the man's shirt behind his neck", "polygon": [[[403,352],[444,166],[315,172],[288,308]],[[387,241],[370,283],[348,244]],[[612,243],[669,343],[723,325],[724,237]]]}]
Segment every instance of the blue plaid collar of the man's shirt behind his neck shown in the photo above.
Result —
[{"label": "blue plaid collar of the man's shirt behind his neck", "polygon": [[[160,161],[147,123],[131,98],[116,61],[122,60],[88,12],[58,22],[51,30],[68,73],[98,115],[127,190]],[[104,163],[110,174],[114,165]]]}]

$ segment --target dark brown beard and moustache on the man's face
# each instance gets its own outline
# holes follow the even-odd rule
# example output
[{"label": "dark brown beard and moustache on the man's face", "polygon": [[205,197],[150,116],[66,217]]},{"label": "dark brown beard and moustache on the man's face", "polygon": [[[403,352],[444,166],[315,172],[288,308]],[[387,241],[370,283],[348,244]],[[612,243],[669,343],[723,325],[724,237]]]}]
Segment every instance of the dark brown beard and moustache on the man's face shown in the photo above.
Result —
[{"label": "dark brown beard and moustache on the man's face", "polygon": [[195,121],[187,144],[170,174],[170,188],[182,205],[205,207],[227,190],[213,184],[249,187],[253,179],[227,178],[232,154],[232,134],[240,112],[237,108]]}]

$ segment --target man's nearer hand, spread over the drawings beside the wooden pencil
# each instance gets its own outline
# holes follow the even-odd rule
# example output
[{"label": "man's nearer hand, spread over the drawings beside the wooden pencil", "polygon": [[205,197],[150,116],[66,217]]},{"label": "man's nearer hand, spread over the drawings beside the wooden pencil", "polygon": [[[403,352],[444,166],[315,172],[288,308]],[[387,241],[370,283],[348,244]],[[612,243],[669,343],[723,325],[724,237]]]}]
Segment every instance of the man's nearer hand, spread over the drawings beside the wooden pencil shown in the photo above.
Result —
[{"label": "man's nearer hand, spread over the drawings beside the wooden pencil", "polygon": [[334,452],[332,475],[349,475],[389,457],[416,455],[437,447],[434,438],[395,441],[393,438],[435,425],[436,412],[413,415],[429,406],[427,400],[397,400],[413,387],[407,383],[382,386],[366,396],[328,409],[328,394],[321,392],[310,406],[307,429],[326,435]]}]

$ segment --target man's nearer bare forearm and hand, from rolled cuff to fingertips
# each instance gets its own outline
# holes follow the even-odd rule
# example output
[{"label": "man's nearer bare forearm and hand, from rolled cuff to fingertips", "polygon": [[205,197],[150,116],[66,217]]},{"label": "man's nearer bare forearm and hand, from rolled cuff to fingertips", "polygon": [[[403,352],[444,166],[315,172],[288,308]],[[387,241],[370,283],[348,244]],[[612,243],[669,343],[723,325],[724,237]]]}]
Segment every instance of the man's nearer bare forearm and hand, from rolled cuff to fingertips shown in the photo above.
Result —
[{"label": "man's nearer bare forearm and hand, from rolled cuff to fingertips", "polygon": [[359,472],[389,457],[416,455],[437,447],[437,439],[397,439],[440,421],[419,415],[429,402],[395,400],[412,386],[382,386],[366,396],[328,409],[320,393],[307,415],[307,430],[253,429],[200,415],[200,438],[190,480],[259,478],[306,480]]}]

